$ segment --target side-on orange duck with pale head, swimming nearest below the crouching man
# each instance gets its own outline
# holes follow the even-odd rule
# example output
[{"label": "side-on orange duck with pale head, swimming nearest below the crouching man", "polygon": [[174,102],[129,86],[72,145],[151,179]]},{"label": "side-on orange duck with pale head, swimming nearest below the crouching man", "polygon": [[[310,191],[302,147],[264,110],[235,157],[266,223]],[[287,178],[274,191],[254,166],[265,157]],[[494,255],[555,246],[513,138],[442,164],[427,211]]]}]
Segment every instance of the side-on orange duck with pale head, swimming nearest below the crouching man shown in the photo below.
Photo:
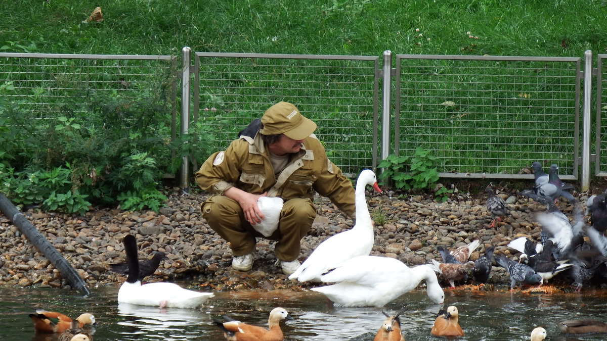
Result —
[{"label": "side-on orange duck with pale head, swimming nearest below the crouching man", "polygon": [[280,320],[293,320],[293,317],[283,308],[274,308],[268,318],[268,329],[252,326],[240,321],[231,320],[224,316],[227,322],[213,319],[213,323],[222,329],[223,336],[228,341],[282,341],[285,337],[280,330]]}]

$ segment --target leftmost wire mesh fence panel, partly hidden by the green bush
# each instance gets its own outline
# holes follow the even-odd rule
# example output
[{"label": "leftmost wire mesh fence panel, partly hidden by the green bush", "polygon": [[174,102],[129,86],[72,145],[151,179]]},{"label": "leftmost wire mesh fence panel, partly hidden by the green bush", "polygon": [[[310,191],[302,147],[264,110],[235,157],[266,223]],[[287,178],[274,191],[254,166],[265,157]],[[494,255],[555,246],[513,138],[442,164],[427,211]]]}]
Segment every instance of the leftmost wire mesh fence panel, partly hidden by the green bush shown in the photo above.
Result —
[{"label": "leftmost wire mesh fence panel, partly hidden by the green bush", "polygon": [[[47,122],[52,129],[67,118],[99,141],[104,130],[123,129],[128,137],[133,127],[153,120],[158,131],[141,134],[170,141],[176,136],[175,61],[174,56],[0,53],[0,84],[10,84],[1,95],[19,115],[39,120],[38,127]],[[168,143],[165,149],[168,160]]]}]

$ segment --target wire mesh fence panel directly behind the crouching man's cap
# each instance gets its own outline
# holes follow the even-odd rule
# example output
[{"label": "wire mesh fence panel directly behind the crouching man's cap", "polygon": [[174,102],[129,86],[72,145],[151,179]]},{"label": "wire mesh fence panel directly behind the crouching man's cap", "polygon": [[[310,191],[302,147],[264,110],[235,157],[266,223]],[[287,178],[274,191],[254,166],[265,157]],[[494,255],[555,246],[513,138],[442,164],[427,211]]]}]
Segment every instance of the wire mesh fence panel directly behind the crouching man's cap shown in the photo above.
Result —
[{"label": "wire mesh fence panel directly behind the crouching man's cap", "polygon": [[345,174],[375,167],[378,57],[196,53],[193,121],[214,127],[225,149],[253,118],[293,103]]}]

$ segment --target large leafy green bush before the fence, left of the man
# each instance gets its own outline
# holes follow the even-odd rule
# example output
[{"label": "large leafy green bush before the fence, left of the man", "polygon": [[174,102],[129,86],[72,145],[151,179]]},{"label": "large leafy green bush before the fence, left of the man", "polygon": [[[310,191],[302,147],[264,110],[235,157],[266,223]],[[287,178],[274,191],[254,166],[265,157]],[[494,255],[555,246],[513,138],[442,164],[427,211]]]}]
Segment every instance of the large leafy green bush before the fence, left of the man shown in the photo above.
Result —
[{"label": "large leafy green bush before the fence, left of the man", "polygon": [[200,122],[171,140],[171,108],[162,98],[98,94],[86,108],[32,120],[6,96],[10,90],[10,83],[0,87],[0,183],[15,204],[80,214],[94,204],[158,211],[164,175],[175,174],[185,155],[196,164],[210,154],[210,129]]}]

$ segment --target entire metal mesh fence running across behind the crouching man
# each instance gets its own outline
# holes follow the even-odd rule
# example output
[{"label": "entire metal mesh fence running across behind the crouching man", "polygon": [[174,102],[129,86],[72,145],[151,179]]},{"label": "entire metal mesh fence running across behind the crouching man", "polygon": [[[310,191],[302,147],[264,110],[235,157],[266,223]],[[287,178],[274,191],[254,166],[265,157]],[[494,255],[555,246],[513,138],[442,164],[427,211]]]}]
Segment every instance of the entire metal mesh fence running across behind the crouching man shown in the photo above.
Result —
[{"label": "entire metal mesh fence running across behind the crouching man", "polygon": [[0,53],[0,82],[13,82],[9,96],[33,119],[84,115],[99,98],[168,96],[171,137],[200,121],[215,128],[216,150],[271,104],[290,101],[316,121],[349,175],[422,147],[438,157],[442,177],[530,178],[520,171],[533,161],[557,163],[565,179],[594,161],[594,174],[607,176],[607,55],[596,70],[582,68],[582,58],[383,57],[380,66],[375,56],[197,52],[194,61],[182,56],[180,72],[174,56]]}]

